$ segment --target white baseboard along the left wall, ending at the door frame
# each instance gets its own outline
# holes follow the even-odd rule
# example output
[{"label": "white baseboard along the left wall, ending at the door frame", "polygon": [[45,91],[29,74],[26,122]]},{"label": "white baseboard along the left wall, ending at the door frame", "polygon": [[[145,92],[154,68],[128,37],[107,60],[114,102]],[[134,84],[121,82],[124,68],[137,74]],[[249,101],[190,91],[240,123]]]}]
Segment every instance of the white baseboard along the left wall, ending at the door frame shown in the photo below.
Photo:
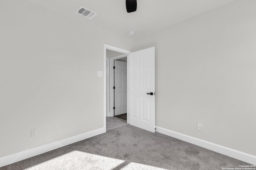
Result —
[{"label": "white baseboard along the left wall, ending at the door frame", "polygon": [[0,167],[6,166],[6,165],[9,165],[9,164],[13,164],[13,163],[18,162],[20,160],[24,160],[24,159],[27,159],[27,158],[30,158],[32,156],[36,156],[36,155],[39,155],[39,154],[42,154],[42,153],[45,153],[45,152],[49,152],[51,150],[58,149],[60,147],[66,146],[66,145],[70,145],[72,143],[76,143],[78,141],[82,141],[84,139],[88,139],[90,137],[100,135],[102,133],[104,133],[104,127],[100,128],[100,129],[96,129],[94,131],[89,131],[89,132],[86,132],[86,133],[83,133],[83,134],[80,134],[80,135],[76,135],[74,137],[69,137],[67,139],[63,139],[63,140],[60,140],[60,141],[56,141],[56,142],[53,142],[53,143],[42,145],[40,147],[36,147],[36,148],[33,148],[33,149],[28,149],[28,150],[24,150],[22,152],[18,152],[18,153],[15,153],[15,154],[4,156],[4,157],[0,158]]}]

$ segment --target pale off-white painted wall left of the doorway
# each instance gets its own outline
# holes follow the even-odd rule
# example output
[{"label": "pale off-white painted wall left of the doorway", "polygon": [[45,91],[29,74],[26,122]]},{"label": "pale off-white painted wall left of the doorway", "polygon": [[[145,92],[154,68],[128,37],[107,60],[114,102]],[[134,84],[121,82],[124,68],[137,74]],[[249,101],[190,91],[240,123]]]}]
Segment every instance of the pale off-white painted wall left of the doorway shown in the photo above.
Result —
[{"label": "pale off-white painted wall left of the doorway", "polygon": [[103,127],[103,47],[131,40],[84,20],[0,1],[0,157]]}]

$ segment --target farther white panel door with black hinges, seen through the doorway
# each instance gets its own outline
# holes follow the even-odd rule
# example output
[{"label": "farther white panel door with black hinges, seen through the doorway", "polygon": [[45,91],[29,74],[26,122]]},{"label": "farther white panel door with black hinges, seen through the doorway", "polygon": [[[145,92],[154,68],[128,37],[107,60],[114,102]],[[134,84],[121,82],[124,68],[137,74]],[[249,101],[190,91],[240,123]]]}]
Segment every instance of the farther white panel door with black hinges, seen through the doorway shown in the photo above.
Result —
[{"label": "farther white panel door with black hinges, seen through the doorway", "polygon": [[115,62],[115,115],[127,113],[127,63]]}]

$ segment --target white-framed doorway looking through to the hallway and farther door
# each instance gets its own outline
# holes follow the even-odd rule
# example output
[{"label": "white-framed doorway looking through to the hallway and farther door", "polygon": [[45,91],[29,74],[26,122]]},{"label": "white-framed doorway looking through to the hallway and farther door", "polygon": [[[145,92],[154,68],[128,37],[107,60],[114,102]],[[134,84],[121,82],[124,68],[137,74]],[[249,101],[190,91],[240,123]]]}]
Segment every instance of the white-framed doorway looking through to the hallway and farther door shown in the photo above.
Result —
[{"label": "white-framed doorway looking through to the hallway and farther door", "polygon": [[[129,123],[128,56],[130,51],[104,45],[104,131]],[[114,69],[115,68],[115,69]],[[120,119],[122,117],[127,120]]]}]

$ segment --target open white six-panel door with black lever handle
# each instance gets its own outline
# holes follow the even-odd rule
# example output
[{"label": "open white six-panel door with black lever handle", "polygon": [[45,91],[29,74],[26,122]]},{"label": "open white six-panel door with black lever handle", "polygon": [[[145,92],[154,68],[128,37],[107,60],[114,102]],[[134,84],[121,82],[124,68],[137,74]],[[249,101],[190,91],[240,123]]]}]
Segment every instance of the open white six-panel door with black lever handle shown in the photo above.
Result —
[{"label": "open white six-panel door with black lever handle", "polygon": [[129,123],[155,132],[155,47],[129,53]]}]

